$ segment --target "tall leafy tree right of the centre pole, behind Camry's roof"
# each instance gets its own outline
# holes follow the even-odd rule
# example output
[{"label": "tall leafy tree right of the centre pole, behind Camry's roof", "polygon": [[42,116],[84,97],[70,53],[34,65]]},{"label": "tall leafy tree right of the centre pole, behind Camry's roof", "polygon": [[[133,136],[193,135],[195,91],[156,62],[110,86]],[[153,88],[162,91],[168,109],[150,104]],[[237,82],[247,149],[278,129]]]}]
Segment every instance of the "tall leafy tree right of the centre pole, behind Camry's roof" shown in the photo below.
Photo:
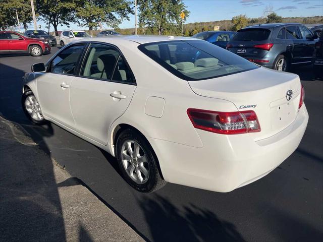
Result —
[{"label": "tall leafy tree right of the centre pole, behind Camry's roof", "polygon": [[183,0],[138,0],[139,24],[147,26],[150,34],[179,34],[181,32],[181,12],[185,18],[189,11]]}]

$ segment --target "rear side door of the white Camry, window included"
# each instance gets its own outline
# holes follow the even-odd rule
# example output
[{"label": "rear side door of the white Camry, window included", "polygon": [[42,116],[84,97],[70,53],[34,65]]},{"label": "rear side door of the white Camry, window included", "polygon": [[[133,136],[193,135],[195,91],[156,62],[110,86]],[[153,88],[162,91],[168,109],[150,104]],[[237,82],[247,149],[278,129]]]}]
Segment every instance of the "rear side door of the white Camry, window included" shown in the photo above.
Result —
[{"label": "rear side door of the white Camry, window included", "polygon": [[91,43],[70,91],[76,131],[106,145],[112,123],[126,111],[135,89],[134,76],[120,51]]}]

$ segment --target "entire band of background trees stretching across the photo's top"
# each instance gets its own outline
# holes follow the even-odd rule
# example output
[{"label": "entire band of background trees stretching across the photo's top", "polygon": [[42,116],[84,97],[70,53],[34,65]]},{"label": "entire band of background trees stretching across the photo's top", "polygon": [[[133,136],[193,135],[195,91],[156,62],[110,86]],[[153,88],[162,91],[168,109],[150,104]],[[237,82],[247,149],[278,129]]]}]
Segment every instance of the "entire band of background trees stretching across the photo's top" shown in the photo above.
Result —
[{"label": "entire band of background trees stretching across the photo's top", "polygon": [[[97,32],[106,24],[115,28],[122,34],[134,34],[135,29],[119,29],[123,20],[129,20],[133,14],[133,0],[33,0],[37,19],[43,20],[47,27],[51,25],[58,34],[58,27],[71,23],[77,23],[87,28],[91,33]],[[138,34],[163,34],[181,35],[181,23],[185,23],[189,11],[183,0],[137,0],[138,3]],[[181,12],[185,18],[180,18]],[[237,31],[247,25],[298,22],[298,23],[322,23],[322,16],[306,18],[282,18],[272,9],[265,11],[266,17],[248,18],[246,15],[233,17],[231,20],[214,22],[199,22],[184,24],[183,34],[192,36],[198,32],[214,30],[214,26],[220,26],[220,30]],[[17,27],[17,15],[19,22],[26,30],[32,22],[31,6],[29,0],[0,0],[0,29],[5,30]]]}]

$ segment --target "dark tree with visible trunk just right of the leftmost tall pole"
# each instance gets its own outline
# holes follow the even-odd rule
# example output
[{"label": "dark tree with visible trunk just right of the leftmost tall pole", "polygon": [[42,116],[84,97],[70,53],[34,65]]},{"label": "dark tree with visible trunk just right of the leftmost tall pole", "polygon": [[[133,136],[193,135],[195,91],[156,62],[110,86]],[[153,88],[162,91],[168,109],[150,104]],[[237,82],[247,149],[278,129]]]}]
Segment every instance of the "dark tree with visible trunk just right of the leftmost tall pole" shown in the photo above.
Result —
[{"label": "dark tree with visible trunk just right of the leftmost tall pole", "polygon": [[36,12],[49,22],[58,35],[57,27],[75,22],[75,9],[77,0],[36,0]]}]

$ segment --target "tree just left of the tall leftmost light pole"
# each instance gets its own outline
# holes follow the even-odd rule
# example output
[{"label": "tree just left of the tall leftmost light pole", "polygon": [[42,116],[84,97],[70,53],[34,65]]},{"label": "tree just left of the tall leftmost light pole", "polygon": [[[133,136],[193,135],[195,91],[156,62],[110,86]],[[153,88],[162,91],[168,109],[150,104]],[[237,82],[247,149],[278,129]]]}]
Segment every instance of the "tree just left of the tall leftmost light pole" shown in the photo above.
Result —
[{"label": "tree just left of the tall leftmost light pole", "polygon": [[10,1],[12,12],[17,10],[19,22],[27,30],[28,24],[32,21],[30,1],[25,0],[11,0]]}]

